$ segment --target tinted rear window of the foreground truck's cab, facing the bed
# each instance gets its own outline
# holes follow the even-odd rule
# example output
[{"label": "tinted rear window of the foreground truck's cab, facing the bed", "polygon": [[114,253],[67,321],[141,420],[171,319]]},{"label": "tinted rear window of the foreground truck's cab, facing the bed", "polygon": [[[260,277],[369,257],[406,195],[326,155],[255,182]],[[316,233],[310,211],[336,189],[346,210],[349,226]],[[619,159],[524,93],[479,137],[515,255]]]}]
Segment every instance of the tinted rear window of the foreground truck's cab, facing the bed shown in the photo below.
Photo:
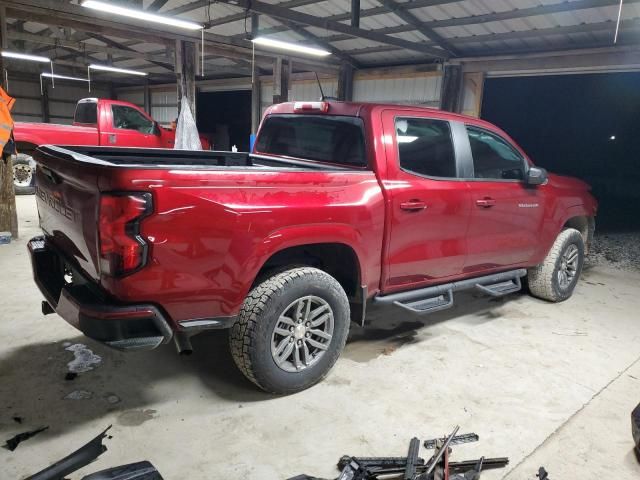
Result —
[{"label": "tinted rear window of the foreground truck's cab, facing the bed", "polygon": [[256,153],[366,167],[362,119],[327,115],[270,115]]}]

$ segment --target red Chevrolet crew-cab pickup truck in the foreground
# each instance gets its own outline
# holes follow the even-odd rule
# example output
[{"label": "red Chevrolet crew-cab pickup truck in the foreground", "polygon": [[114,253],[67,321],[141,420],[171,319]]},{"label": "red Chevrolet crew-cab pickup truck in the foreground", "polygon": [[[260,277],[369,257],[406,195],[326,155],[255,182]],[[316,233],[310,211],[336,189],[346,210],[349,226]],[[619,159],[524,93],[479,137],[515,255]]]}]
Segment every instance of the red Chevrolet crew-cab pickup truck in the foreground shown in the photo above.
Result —
[{"label": "red Chevrolet crew-cab pickup truck in the foreground", "polygon": [[120,349],[230,329],[240,370],[277,393],[318,382],[367,304],[424,315],[523,277],[569,298],[597,208],[495,126],[411,106],[275,105],[253,153],[36,158],[45,314]]}]

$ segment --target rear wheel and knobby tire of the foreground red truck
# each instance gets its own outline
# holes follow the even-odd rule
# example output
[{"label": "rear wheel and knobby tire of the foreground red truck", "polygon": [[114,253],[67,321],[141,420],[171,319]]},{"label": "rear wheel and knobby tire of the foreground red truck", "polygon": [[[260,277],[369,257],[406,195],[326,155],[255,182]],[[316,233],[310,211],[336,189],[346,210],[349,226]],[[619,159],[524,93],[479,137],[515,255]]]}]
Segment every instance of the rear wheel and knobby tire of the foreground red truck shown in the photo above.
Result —
[{"label": "rear wheel and knobby tire of the foreground red truck", "polygon": [[231,355],[262,390],[299,392],[333,367],[347,340],[349,322],[349,301],[335,278],[316,268],[290,269],[251,290],[229,332]]}]

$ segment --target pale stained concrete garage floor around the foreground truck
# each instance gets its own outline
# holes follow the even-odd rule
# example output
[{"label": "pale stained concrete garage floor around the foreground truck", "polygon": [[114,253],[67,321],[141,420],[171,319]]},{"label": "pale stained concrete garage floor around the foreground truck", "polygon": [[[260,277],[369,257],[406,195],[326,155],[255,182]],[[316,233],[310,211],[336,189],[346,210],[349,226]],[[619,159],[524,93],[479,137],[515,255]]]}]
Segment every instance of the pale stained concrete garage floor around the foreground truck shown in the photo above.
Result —
[{"label": "pale stained concrete garage floor around the foreground truck", "polygon": [[[0,449],[2,478],[34,473],[110,424],[109,450],[81,474],[148,459],[166,479],[335,477],[343,454],[403,455],[411,437],[456,424],[481,441],[455,447],[455,459],[510,457],[486,480],[533,480],[540,465],[554,480],[640,474],[629,420],[640,402],[640,272],[587,269],[563,304],[461,295],[426,319],[374,312],[323,383],[278,398],[236,371],[224,334],[196,338],[191,357],[172,346],[123,354],[43,317],[25,249],[34,203],[18,198],[21,238],[0,246],[0,440],[49,430]],[[65,346],[77,343],[102,361],[65,381]],[[65,398],[77,391],[90,398]]]}]

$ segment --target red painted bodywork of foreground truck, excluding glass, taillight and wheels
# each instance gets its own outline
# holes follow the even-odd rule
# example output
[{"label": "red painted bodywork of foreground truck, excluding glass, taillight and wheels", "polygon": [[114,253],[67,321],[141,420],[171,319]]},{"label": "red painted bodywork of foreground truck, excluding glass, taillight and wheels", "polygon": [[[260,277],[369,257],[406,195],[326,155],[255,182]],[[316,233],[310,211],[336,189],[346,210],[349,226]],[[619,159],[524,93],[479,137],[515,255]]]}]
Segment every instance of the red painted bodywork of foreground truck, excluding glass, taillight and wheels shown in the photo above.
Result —
[{"label": "red painted bodywork of foreground truck, excluding glass, taillight and wheels", "polygon": [[[273,106],[266,115],[278,113],[293,113],[293,104]],[[368,169],[118,168],[51,158],[46,165],[63,182],[38,191],[42,225],[113,297],[156,304],[175,324],[237,314],[260,268],[287,247],[350,247],[373,296],[536,265],[569,218],[595,215],[587,186],[569,178],[550,175],[533,187],[409,174],[398,166],[394,135],[385,136],[398,114],[480,125],[514,143],[486,122],[354,103],[332,102],[328,114],[363,119]],[[149,261],[123,278],[100,274],[101,191],[153,195],[153,213],[141,224]],[[61,207],[47,207],[52,196],[62,199]],[[495,200],[490,208],[476,205],[486,198]],[[426,208],[405,209],[415,202]],[[539,206],[519,207],[523,203]]]}]

